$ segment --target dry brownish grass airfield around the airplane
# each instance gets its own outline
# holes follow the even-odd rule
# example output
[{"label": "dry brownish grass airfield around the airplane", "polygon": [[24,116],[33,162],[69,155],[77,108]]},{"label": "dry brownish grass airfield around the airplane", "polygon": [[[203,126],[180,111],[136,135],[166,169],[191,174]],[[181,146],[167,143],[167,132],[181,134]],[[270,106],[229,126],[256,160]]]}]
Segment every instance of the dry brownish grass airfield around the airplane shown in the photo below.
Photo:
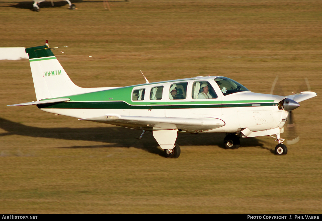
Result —
[{"label": "dry brownish grass airfield around the airplane", "polygon": [[[48,39],[81,87],[223,75],[252,92],[317,97],[293,111],[300,141],[223,149],[223,134],[179,134],[167,159],[147,133],[54,116],[34,106],[29,61],[0,61],[0,213],[320,214],[322,2],[316,0],[0,1],[0,47]],[[63,51],[64,53],[61,53]],[[90,57],[91,56],[91,57]],[[282,90],[282,92],[281,92]],[[283,134],[282,134],[283,135]]]}]

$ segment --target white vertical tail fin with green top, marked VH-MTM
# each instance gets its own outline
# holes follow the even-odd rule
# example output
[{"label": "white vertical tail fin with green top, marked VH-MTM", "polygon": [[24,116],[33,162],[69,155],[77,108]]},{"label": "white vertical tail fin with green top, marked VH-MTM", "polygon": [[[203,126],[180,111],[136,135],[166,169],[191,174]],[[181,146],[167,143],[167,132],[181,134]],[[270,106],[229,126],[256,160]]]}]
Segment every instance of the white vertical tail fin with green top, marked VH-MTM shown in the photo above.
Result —
[{"label": "white vertical tail fin with green top, marked VH-MTM", "polygon": [[[46,45],[27,48],[37,101],[84,93],[85,88],[75,85],[62,65]],[[85,89],[85,91],[84,91]]]}]

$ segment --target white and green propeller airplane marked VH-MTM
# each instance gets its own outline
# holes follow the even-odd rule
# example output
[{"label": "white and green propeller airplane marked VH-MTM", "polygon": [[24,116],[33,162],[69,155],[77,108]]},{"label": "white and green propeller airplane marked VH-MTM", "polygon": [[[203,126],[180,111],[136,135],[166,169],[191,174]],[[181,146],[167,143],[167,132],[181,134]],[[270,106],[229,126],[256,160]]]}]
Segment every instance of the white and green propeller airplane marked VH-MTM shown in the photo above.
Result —
[{"label": "white and green propeller airplane marked VH-MTM", "polygon": [[[126,87],[75,85],[46,44],[27,48],[37,105],[56,115],[152,131],[165,155],[177,158],[177,133],[226,133],[224,146],[235,149],[241,137],[276,135],[276,155],[287,154],[280,137],[290,111],[317,96],[260,94],[223,76],[194,77]],[[141,138],[140,137],[140,138]]]}]

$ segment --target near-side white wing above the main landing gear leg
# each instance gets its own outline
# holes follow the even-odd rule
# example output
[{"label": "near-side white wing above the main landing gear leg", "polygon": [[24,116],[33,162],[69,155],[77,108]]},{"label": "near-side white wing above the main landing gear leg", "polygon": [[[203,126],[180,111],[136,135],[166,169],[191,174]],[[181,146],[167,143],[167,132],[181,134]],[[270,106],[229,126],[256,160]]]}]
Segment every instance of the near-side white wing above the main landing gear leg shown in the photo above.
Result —
[{"label": "near-side white wing above the main landing gear leg", "polygon": [[106,114],[104,116],[79,120],[95,121],[147,131],[179,129],[183,132],[201,132],[225,125],[223,120],[217,118],[144,117],[122,116],[118,114]]}]

